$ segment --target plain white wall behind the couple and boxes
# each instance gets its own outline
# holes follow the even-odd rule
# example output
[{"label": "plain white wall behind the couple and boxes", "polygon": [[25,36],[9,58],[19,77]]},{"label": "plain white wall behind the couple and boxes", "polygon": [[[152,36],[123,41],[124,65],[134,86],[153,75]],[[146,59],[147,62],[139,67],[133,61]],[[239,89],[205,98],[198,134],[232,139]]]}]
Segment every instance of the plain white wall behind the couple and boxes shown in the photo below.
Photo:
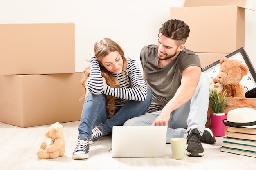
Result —
[{"label": "plain white wall behind the couple and boxes", "polygon": [[[170,19],[170,7],[185,0],[0,0],[0,23],[74,22],[76,71],[82,72],[94,42],[108,37],[139,62],[143,46],[156,44],[159,27]],[[251,2],[256,6],[256,2]],[[247,10],[245,51],[256,68],[256,11]],[[139,62],[140,64],[140,62]]]}]

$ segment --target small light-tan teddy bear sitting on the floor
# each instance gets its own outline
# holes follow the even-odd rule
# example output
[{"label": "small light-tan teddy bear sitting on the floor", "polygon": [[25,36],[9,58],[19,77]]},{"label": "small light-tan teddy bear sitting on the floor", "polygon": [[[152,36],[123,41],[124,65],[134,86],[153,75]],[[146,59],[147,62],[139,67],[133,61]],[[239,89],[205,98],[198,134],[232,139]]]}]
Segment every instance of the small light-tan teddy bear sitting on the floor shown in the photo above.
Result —
[{"label": "small light-tan teddy bear sitting on the floor", "polygon": [[47,146],[45,141],[42,142],[40,149],[36,152],[38,159],[48,159],[61,157],[65,153],[65,140],[63,126],[56,122],[45,132],[47,138],[51,138],[51,143]]}]

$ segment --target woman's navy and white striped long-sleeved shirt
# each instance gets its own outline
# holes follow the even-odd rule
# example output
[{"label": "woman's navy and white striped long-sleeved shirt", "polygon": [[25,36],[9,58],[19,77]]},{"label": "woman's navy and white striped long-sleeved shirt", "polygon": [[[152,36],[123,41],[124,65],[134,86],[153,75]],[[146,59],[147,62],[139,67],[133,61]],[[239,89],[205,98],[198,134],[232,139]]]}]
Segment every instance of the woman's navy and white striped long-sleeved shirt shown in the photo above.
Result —
[{"label": "woman's navy and white striped long-sleeved shirt", "polygon": [[[95,95],[104,94],[115,97],[114,109],[120,109],[127,100],[144,101],[147,95],[147,85],[144,78],[141,75],[139,65],[137,61],[128,58],[126,72],[115,74],[114,77],[120,84],[120,88],[112,88],[107,85],[105,91],[103,91],[103,80],[101,76],[99,62],[96,57],[90,58],[90,76],[87,80],[88,91]],[[128,84],[129,82],[130,84]]]}]

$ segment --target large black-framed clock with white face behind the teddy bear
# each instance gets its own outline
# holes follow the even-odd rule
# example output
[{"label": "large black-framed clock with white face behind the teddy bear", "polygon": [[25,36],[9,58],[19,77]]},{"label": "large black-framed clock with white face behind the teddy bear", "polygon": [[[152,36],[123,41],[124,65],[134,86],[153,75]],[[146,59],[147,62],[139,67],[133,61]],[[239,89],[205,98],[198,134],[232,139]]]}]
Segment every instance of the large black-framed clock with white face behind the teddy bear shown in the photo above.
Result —
[{"label": "large black-framed clock with white face behind the teddy bear", "polygon": [[[250,59],[247,53],[245,52],[245,50],[243,49],[243,47],[227,55],[226,57],[229,60],[232,60],[232,59],[239,60],[243,64],[248,66],[249,73],[242,78],[242,80],[240,81],[240,84],[242,84],[245,89],[245,97],[256,97],[255,69],[252,66]],[[203,68],[202,71],[207,74],[209,79],[215,78],[220,71],[220,60]]]}]

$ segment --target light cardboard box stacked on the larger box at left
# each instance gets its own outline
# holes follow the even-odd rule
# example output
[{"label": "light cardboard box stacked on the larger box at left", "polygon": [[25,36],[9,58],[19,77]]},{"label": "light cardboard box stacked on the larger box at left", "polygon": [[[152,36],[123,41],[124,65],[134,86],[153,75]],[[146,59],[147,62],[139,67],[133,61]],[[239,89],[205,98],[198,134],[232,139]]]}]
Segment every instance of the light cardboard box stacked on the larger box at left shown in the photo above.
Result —
[{"label": "light cardboard box stacked on the larger box at left", "polygon": [[0,74],[75,73],[74,23],[0,24]]}]

